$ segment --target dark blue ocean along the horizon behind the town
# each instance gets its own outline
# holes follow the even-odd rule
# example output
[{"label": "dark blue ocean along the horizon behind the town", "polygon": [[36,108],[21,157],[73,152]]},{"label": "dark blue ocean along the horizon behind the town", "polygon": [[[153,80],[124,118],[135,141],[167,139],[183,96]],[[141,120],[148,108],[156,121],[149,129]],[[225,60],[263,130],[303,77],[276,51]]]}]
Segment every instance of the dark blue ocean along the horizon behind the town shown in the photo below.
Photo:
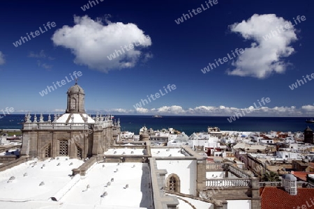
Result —
[{"label": "dark blue ocean along the horizon behind the town", "polygon": [[[3,116],[3,115],[0,115]],[[39,121],[39,114],[37,119]],[[47,121],[48,115],[45,114],[44,121]],[[52,120],[53,120],[53,115]],[[93,115],[92,115],[93,116]],[[1,117],[0,117],[1,118]],[[163,116],[163,118],[153,118],[152,116],[114,116],[120,119],[121,131],[130,131],[138,134],[140,128],[144,125],[147,128],[160,130],[162,128],[173,127],[175,130],[185,132],[190,136],[193,132],[207,131],[208,126],[217,126],[220,130],[237,130],[237,131],[258,131],[269,132],[304,132],[309,125],[314,130],[314,124],[306,123],[308,118],[276,118],[276,117],[241,117],[236,121],[229,123],[227,116]],[[31,114],[33,121],[33,114]],[[11,114],[0,119],[1,129],[22,129],[24,114]]]}]

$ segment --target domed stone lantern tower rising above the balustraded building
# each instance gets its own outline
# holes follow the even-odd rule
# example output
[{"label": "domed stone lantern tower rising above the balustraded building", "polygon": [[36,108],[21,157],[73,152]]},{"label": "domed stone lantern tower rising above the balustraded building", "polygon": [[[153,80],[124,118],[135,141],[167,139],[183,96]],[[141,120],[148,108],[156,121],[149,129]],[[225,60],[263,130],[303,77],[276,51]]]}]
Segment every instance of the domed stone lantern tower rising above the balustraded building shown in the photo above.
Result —
[{"label": "domed stone lantern tower rising above the balustraded building", "polygon": [[68,89],[68,106],[66,108],[66,113],[85,113],[84,100],[85,93],[81,86],[77,85],[75,82],[74,86]]}]

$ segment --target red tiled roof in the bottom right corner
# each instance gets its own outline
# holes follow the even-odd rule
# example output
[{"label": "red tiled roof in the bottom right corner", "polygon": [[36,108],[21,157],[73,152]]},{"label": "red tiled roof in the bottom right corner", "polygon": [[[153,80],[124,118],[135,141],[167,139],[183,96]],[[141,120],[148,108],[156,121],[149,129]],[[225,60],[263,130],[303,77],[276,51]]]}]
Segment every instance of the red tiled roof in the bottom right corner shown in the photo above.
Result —
[{"label": "red tiled roof in the bottom right corner", "polygon": [[264,187],[260,189],[260,198],[261,209],[296,209],[298,206],[306,206],[306,201],[309,204],[306,207],[311,208],[309,206],[313,206],[311,200],[314,202],[314,189],[298,188],[297,195],[290,195],[282,187]]}]

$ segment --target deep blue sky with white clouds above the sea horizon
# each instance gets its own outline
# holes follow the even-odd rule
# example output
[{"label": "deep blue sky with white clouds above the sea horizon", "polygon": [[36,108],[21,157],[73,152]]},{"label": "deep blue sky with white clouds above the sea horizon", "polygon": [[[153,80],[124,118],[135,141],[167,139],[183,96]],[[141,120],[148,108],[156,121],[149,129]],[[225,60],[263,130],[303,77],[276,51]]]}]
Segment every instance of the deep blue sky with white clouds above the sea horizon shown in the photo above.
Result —
[{"label": "deep blue sky with white clouds above the sea horizon", "polygon": [[[0,110],[62,113],[80,71],[91,114],[232,116],[251,107],[247,116],[314,116],[312,1],[94,2],[1,3]],[[236,49],[244,51],[232,57]],[[165,93],[168,84],[176,88]]]}]

